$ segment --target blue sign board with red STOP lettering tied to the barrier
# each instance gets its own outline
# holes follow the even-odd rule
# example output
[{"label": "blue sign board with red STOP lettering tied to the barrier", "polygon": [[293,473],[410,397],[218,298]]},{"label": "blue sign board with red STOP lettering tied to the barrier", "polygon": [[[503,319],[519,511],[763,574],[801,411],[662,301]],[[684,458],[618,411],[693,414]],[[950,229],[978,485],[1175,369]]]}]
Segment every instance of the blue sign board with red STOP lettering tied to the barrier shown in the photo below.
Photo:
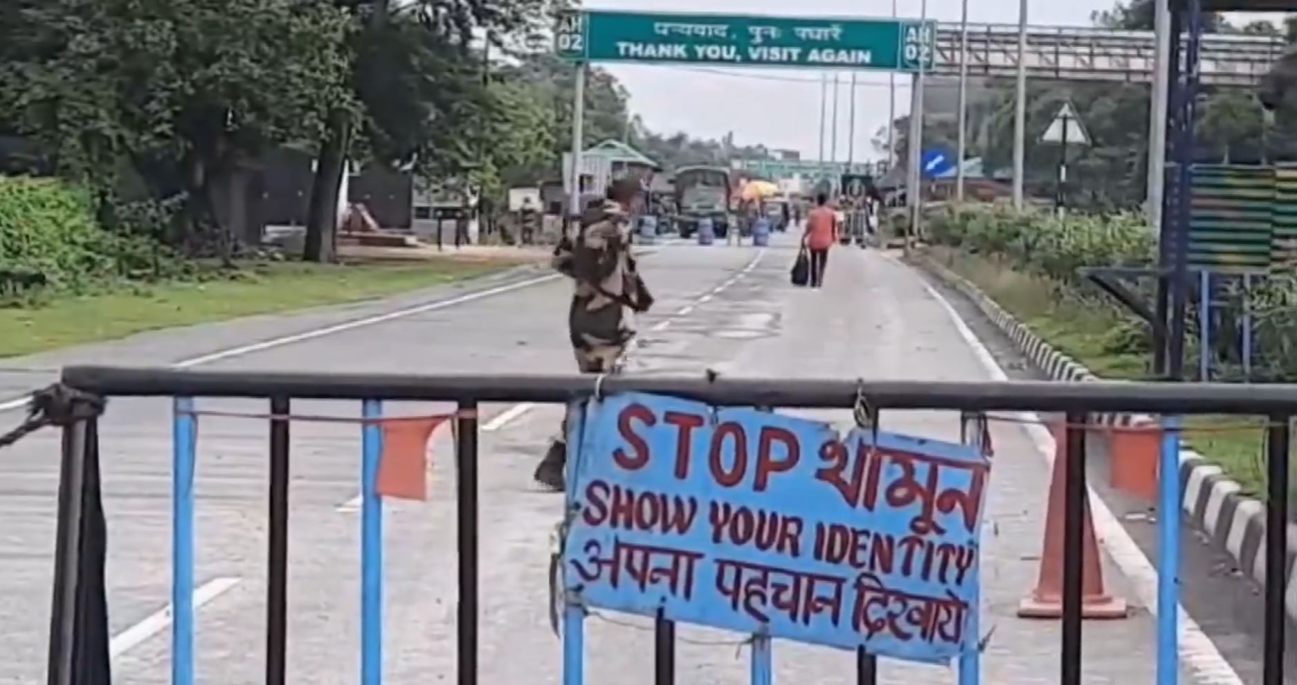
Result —
[{"label": "blue sign board with red STOP lettering tied to the barrier", "polygon": [[580,414],[569,603],[927,663],[977,650],[981,450],[641,393]]}]

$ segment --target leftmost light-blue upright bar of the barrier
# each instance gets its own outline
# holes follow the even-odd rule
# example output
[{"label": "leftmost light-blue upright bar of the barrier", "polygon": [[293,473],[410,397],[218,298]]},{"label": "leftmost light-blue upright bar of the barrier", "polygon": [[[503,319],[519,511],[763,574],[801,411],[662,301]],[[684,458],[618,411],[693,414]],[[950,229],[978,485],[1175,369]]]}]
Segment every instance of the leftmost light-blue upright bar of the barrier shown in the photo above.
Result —
[{"label": "leftmost light-blue upright bar of the barrier", "polygon": [[193,685],[193,400],[176,397],[171,419],[171,684]]}]

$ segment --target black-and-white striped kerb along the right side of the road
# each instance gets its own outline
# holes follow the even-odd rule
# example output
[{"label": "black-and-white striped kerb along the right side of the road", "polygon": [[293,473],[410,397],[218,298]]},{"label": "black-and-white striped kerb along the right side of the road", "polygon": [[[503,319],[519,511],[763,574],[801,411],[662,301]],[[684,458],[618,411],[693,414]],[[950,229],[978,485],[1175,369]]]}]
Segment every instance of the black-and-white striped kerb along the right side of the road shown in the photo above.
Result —
[{"label": "black-and-white striped kerb along the right side of the road", "polygon": [[[917,256],[916,265],[927,274],[955,288],[990,319],[1027,359],[1060,381],[1102,380],[1071,357],[1056,350],[1049,342],[1031,332],[995,300],[964,276],[926,256]],[[1095,423],[1102,426],[1132,426],[1156,422],[1141,414],[1095,414]],[[1115,458],[1115,457],[1114,457]],[[1231,480],[1220,467],[1209,463],[1192,449],[1180,450],[1180,509],[1183,516],[1197,531],[1205,533],[1214,546],[1230,553],[1239,570],[1257,583],[1266,581],[1266,507],[1253,498],[1239,494],[1237,481]],[[1288,524],[1288,559],[1284,564],[1284,608],[1288,618],[1297,620],[1297,525]]]}]

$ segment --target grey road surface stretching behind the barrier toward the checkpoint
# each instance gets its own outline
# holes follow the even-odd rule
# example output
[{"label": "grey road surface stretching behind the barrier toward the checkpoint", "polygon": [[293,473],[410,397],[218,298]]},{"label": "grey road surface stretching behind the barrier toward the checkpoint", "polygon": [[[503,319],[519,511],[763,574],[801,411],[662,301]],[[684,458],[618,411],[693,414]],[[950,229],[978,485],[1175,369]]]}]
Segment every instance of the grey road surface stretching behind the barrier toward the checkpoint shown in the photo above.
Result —
[{"label": "grey road surface stretching behind the barrier toward the checkpoint", "polygon": [[[782,240],[782,237],[781,237]],[[783,240],[786,241],[786,240]],[[991,371],[946,306],[918,275],[877,252],[834,250],[824,291],[792,289],[787,248],[664,246],[646,258],[659,298],[641,322],[630,372],[988,380]],[[505,287],[499,283],[495,287]],[[73,354],[10,366],[53,368],[67,359],[202,367],[335,371],[541,372],[572,367],[563,330],[568,285],[519,285],[446,306],[416,298],[154,333]],[[442,300],[467,292],[444,293]],[[422,297],[429,297],[427,293]],[[399,317],[383,318],[387,313]],[[329,335],[319,327],[372,318]],[[314,328],[313,328],[314,327]],[[241,331],[232,332],[232,331]],[[287,340],[257,348],[258,340]],[[288,336],[288,337],[285,337]],[[297,337],[293,337],[297,336]],[[246,348],[235,355],[222,349]],[[262,411],[262,402],[201,401],[200,409]],[[303,414],[358,414],[354,403],[302,402]],[[403,403],[392,414],[444,407]],[[558,407],[484,407],[481,436],[481,675],[484,684],[559,682],[559,643],[549,632],[547,533],[562,499],[534,492],[534,459],[559,420]],[[502,414],[505,413],[505,414]],[[489,416],[511,420],[492,422]],[[847,413],[820,414],[850,420]],[[0,415],[3,416],[3,415]],[[951,439],[949,413],[885,413],[886,426]],[[289,677],[294,682],[355,682],[359,669],[359,429],[293,424],[289,550]],[[262,681],[265,627],[266,426],[257,420],[200,422],[198,572],[210,599],[198,612],[200,682]],[[983,631],[995,629],[984,656],[988,684],[1057,682],[1058,625],[1014,618],[1034,580],[1047,489],[1047,466],[1021,427],[994,428],[996,471],[987,511]],[[121,682],[167,682],[165,619],[169,599],[170,423],[160,400],[113,401],[104,422],[109,518],[109,601]],[[0,636],[10,647],[0,681],[34,682],[44,669],[53,541],[56,436],[42,435],[0,459]],[[442,431],[433,445],[432,497],[388,506],[388,682],[450,681],[455,645],[454,471]],[[1135,605],[1119,623],[1087,623],[1087,682],[1150,682],[1152,616],[1115,566],[1108,579]],[[648,682],[651,627],[601,615],[589,627],[589,682]],[[144,628],[140,628],[144,625]],[[153,631],[152,633],[149,631]],[[122,638],[121,636],[126,636]],[[746,682],[735,659],[742,636],[681,628],[681,682]],[[127,640],[128,638],[128,640]],[[1208,655],[1210,656],[1210,655]],[[1202,658],[1202,656],[1200,656]],[[778,643],[781,682],[855,682],[852,656]],[[939,668],[883,663],[881,682],[948,684]],[[1182,682],[1195,682],[1185,669]],[[1202,681],[1205,682],[1205,681]]]}]

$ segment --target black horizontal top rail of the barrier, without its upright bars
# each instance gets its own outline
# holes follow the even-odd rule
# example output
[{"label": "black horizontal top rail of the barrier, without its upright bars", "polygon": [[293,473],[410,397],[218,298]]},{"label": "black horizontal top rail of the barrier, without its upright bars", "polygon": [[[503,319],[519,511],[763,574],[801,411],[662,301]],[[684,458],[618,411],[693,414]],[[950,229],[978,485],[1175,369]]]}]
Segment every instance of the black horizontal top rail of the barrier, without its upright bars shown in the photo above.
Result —
[{"label": "black horizontal top rail of the barrier, without its upright bars", "polygon": [[589,375],[259,374],[73,366],[62,380],[104,396],[567,402],[595,392],[647,392],[713,405],[1148,414],[1297,414],[1297,384],[789,380]]}]

